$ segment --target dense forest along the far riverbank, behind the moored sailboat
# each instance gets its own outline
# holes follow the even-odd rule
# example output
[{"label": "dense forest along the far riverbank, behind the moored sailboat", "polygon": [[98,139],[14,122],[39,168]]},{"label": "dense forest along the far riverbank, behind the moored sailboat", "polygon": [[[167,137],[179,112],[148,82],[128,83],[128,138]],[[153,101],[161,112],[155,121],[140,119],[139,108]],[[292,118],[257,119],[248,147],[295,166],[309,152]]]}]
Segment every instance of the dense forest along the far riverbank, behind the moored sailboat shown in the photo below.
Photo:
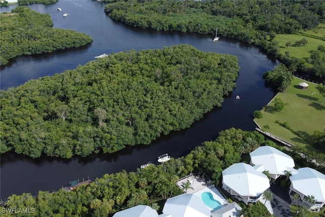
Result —
[{"label": "dense forest along the far riverbank, behind the moored sailboat", "polygon": [[316,27],[324,21],[324,9],[323,1],[123,1],[108,4],[105,12],[129,26],[159,31],[213,34],[218,27],[220,36],[261,46],[287,67],[325,77],[319,70],[325,59],[309,65],[308,59],[281,55],[274,40],[276,34]]}]

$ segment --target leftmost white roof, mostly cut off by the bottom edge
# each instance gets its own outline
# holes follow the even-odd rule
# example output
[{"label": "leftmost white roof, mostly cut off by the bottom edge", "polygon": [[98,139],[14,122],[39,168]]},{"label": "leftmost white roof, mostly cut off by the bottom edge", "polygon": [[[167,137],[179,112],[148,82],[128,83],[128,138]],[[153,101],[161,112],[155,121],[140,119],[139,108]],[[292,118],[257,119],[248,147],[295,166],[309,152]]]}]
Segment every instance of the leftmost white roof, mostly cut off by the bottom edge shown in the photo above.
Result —
[{"label": "leftmost white roof, mostly cut off by the bottom edge", "polygon": [[116,212],[113,217],[157,217],[156,210],[146,205],[138,205]]}]

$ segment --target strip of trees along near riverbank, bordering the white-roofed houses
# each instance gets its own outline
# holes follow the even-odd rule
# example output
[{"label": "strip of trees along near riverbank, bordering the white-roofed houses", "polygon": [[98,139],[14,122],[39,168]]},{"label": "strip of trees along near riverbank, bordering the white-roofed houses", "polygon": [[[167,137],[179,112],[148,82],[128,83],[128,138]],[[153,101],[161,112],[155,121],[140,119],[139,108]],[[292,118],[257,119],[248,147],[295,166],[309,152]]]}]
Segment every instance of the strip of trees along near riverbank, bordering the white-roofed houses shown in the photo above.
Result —
[{"label": "strip of trees along near riverbank, bordering the white-roofed houses", "polygon": [[[303,159],[299,149],[286,150],[270,140],[265,140],[256,131],[232,128],[221,131],[214,141],[205,142],[184,157],[171,159],[157,166],[150,165],[135,172],[105,174],[89,185],[70,192],[40,191],[36,197],[29,193],[12,195],[5,208],[34,208],[35,213],[30,213],[29,216],[108,216],[140,204],[158,209],[157,203],[152,203],[153,199],[164,200],[183,193],[176,185],[180,177],[201,172],[212,183],[221,186],[221,172],[234,163],[249,163],[248,153],[260,145],[273,146],[289,154],[298,167],[308,166],[324,172],[324,167]],[[255,213],[256,216],[269,215],[263,204],[250,204],[247,207],[243,203],[240,205],[244,208],[245,216],[252,216],[249,213]],[[3,216],[10,214],[4,213]],[[24,214],[16,213],[15,216]]]}]

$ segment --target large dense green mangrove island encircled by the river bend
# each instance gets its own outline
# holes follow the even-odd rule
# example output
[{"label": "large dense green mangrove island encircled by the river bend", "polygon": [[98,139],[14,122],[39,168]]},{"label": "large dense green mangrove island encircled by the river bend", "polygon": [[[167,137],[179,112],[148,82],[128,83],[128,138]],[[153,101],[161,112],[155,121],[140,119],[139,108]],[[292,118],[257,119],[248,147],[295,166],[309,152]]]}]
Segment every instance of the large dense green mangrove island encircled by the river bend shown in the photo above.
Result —
[{"label": "large dense green mangrove island encircled by the river bend", "polygon": [[134,50],[1,91],[1,152],[71,158],[188,128],[235,87],[232,55]]}]

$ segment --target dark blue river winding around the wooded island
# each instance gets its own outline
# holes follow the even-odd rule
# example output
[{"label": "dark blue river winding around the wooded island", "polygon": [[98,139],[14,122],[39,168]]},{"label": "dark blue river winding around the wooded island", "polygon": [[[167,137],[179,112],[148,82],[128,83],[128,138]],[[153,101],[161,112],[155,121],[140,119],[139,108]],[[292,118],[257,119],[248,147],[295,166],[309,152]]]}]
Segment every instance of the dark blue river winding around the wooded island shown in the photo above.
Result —
[{"label": "dark blue river winding around the wooded island", "polygon": [[[254,130],[252,113],[266,105],[273,92],[265,87],[263,72],[277,64],[259,48],[234,39],[220,38],[212,42],[214,34],[199,35],[178,32],[156,32],[138,29],[112,21],[104,13],[105,4],[92,1],[59,1],[53,5],[29,5],[40,13],[48,13],[55,28],[74,29],[86,33],[93,42],[82,48],[56,51],[42,55],[16,57],[1,68],[1,89],[23,84],[29,79],[54,75],[78,65],[84,65],[102,53],[125,50],[163,48],[177,44],[189,44],[205,52],[229,53],[239,59],[240,73],[237,87],[226,97],[221,108],[192,124],[189,129],[172,132],[158,138],[150,145],[129,147],[113,154],[92,154],[86,158],[55,159],[42,157],[30,159],[13,152],[1,155],[1,198],[11,194],[58,190],[71,180],[82,178],[94,180],[105,173],[125,169],[135,171],[149,161],[157,163],[163,153],[177,158],[184,156],[203,141],[213,140],[222,130],[237,128]],[[1,8],[1,12],[11,11]],[[57,12],[56,8],[61,8]],[[63,13],[70,15],[63,17]],[[236,95],[240,100],[236,100]]]}]

